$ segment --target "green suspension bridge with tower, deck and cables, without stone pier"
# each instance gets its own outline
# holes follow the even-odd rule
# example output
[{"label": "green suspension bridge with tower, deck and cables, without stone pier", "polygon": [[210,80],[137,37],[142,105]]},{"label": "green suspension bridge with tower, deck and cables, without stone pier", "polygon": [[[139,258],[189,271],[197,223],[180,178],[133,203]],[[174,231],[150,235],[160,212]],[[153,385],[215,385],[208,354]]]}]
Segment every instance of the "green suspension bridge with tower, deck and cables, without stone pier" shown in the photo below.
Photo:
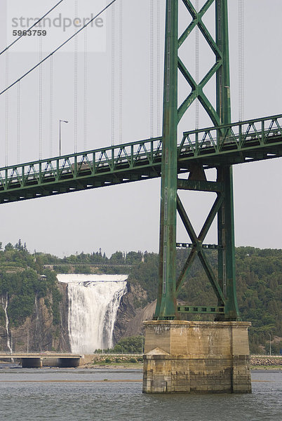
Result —
[{"label": "green suspension bridge with tower, deck and cables, without stone pier", "polygon": [[[61,1],[59,4],[62,3]],[[77,1],[74,2],[77,12]],[[243,120],[243,39],[239,46],[239,85],[241,98],[240,121],[231,123],[230,77],[229,77],[229,31],[227,0],[166,0],[166,30],[164,37],[164,76],[163,76],[163,128],[154,136],[154,117],[159,119],[159,96],[154,100],[154,93],[159,95],[159,74],[154,77],[154,60],[157,52],[156,67],[160,67],[159,32],[154,32],[154,13],[157,18],[156,27],[161,25],[159,16],[159,1],[151,2],[151,78],[150,78],[150,128],[151,137],[144,140],[123,143],[123,124],[119,120],[119,140],[116,144],[116,114],[122,116],[123,102],[123,37],[122,37],[122,1],[109,2],[104,9],[120,4],[119,9],[119,107],[116,109],[116,33],[114,32],[116,18],[112,13],[112,144],[97,149],[77,152],[78,131],[78,72],[77,45],[74,60],[74,153],[55,157],[47,157],[25,163],[6,165],[0,168],[0,203],[24,201],[42,196],[53,196],[67,192],[118,185],[150,178],[161,178],[161,220],[160,220],[160,260],[159,260],[159,294],[156,305],[156,321],[171,321],[180,319],[182,313],[214,314],[218,322],[235,322],[239,320],[239,310],[236,302],[236,274],[234,257],[234,200],[232,166],[274,159],[282,156],[282,114]],[[59,6],[58,4],[58,6]],[[56,6],[57,7],[57,6]],[[239,1],[241,13],[242,1]],[[180,9],[182,8],[182,9]],[[180,31],[180,11],[187,13],[189,19],[182,22]],[[213,25],[206,25],[206,15],[213,12]],[[102,9],[95,18],[100,17]],[[93,18],[94,19],[94,18]],[[90,21],[77,30],[69,40],[76,39],[80,32],[87,28]],[[243,32],[242,20],[239,27]],[[158,29],[159,30],[159,29]],[[183,46],[195,34],[192,42],[196,45],[194,72],[189,69],[189,60]],[[156,36],[157,35],[157,36]],[[199,36],[213,57],[208,70],[199,76]],[[154,47],[154,37],[158,44]],[[20,34],[20,39],[22,34]],[[20,40],[19,40],[20,41]],[[66,43],[67,41],[64,41]],[[63,44],[62,44],[63,45]],[[65,45],[65,44],[64,44]],[[57,47],[57,49],[60,46]],[[13,86],[19,86],[22,79],[41,69],[43,62],[54,60],[54,51],[18,77],[13,83],[6,73],[6,88],[1,95],[8,95]],[[8,51],[8,49],[7,49]],[[3,51],[2,51],[3,53]],[[85,58],[84,58],[85,60]],[[86,61],[84,61],[86,63]],[[53,66],[53,65],[52,65]],[[53,67],[51,68],[53,69]],[[201,67],[201,66],[200,66]],[[8,67],[6,67],[7,72]],[[241,70],[240,70],[241,69]],[[86,72],[86,67],[85,67]],[[241,73],[240,73],[241,72]],[[50,76],[52,74],[50,73]],[[42,97],[42,74],[39,74],[39,98]],[[209,98],[206,91],[212,82],[215,95]],[[154,86],[156,83],[156,87]],[[52,84],[52,83],[51,83]],[[84,79],[84,95],[86,95],[86,79]],[[181,95],[180,95],[181,93]],[[51,105],[53,93],[51,93]],[[183,99],[180,100],[180,97]],[[7,98],[7,97],[6,97]],[[18,88],[18,98],[19,88]],[[40,99],[41,100],[41,99]],[[19,104],[19,100],[18,100]],[[42,103],[39,102],[39,119],[42,119]],[[196,104],[196,128],[187,131],[186,127],[180,133],[181,123],[189,109]],[[6,112],[7,112],[6,102]],[[206,128],[199,128],[199,107],[210,122]],[[156,108],[156,110],[155,110]],[[84,111],[86,96],[84,96]],[[18,109],[18,113],[19,113]],[[51,107],[52,114],[52,107]],[[155,116],[155,114],[157,114]],[[206,121],[206,120],[205,120]],[[185,121],[185,125],[187,122]],[[42,122],[39,124],[42,137]],[[86,130],[86,120],[84,128]],[[158,126],[158,125],[156,125]],[[18,128],[18,138],[20,129]],[[40,139],[41,142],[41,139]],[[41,155],[41,143],[39,145]],[[208,179],[208,172],[213,168],[215,180]],[[216,199],[210,208],[208,218],[203,224],[199,235],[196,234],[187,210],[180,199],[178,190],[214,192]],[[187,242],[177,242],[177,213],[187,232]],[[217,218],[217,244],[206,244],[204,241],[213,221]],[[189,249],[187,261],[177,276],[176,250]],[[206,248],[217,249],[217,274],[214,272]],[[199,303],[191,306],[189,303],[177,304],[177,295],[183,283],[187,280],[189,269],[196,257],[199,257],[208,280],[217,298],[217,306]]]}]

